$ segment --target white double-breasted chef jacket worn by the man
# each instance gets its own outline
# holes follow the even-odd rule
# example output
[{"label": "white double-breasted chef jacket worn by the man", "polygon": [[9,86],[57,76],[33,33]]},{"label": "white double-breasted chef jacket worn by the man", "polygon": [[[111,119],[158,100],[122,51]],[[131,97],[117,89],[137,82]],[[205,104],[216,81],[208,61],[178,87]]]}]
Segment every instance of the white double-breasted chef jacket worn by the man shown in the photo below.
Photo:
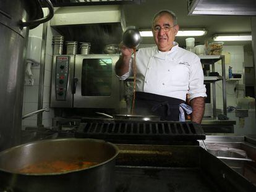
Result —
[{"label": "white double-breasted chef jacket worn by the man", "polygon": [[[119,77],[125,80],[133,75],[133,58],[129,72]],[[161,52],[157,46],[141,48],[136,52],[136,91],[160,94],[186,101],[206,97],[200,58],[174,42],[170,51]]]}]

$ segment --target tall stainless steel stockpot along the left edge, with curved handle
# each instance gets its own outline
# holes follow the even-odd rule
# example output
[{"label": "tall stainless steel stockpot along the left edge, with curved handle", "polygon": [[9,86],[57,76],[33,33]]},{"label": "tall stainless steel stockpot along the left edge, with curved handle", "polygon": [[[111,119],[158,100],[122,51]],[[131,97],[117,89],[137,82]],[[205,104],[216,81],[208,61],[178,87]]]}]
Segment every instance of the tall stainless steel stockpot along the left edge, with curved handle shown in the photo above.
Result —
[{"label": "tall stainless steel stockpot along the left edge, with curved handle", "polygon": [[28,30],[53,17],[45,2],[49,14],[41,18],[38,0],[0,1],[0,151],[20,143]]}]

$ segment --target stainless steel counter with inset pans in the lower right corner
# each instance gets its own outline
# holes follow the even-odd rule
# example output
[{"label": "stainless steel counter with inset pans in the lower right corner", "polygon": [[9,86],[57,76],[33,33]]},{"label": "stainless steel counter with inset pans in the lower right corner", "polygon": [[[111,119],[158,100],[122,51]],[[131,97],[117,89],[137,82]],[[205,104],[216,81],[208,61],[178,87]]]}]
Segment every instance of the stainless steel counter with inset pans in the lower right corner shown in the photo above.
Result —
[{"label": "stainless steel counter with inset pans in the lower right corner", "polygon": [[[200,146],[203,148],[202,141],[199,141]],[[206,136],[205,145],[208,152],[217,155],[221,161],[229,165],[236,172],[243,175],[247,180],[256,185],[256,135],[249,136]],[[218,149],[220,147],[220,149]],[[225,149],[227,148],[227,149]],[[218,152],[220,150],[220,154]],[[231,151],[229,151],[231,150]],[[235,152],[234,152],[235,151]],[[239,152],[239,156],[236,157]],[[213,152],[213,153],[212,153]],[[215,154],[216,152],[216,154]],[[222,154],[222,155],[221,155]],[[223,157],[223,154],[227,155]],[[231,156],[229,156],[231,155]],[[227,158],[228,157],[228,158]]]}]

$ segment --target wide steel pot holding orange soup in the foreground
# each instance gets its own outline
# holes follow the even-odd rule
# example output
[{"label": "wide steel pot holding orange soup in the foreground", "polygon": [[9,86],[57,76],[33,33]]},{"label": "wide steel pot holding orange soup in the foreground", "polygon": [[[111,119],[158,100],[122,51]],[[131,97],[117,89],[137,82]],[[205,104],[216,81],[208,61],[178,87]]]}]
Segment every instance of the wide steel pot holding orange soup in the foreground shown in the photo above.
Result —
[{"label": "wide steel pot holding orange soup in the foreground", "polygon": [[[16,146],[0,152],[0,188],[24,192],[111,192],[117,154],[114,144],[92,139],[44,140]],[[37,162],[77,158],[98,164],[64,173],[21,174],[18,171]]]}]

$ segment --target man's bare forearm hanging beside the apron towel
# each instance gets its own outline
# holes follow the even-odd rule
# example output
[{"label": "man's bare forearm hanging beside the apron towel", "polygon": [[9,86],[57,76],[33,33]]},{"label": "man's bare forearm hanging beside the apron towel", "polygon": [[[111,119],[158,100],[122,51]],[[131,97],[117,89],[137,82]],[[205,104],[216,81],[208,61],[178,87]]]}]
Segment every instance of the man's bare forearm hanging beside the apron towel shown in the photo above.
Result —
[{"label": "man's bare forearm hanging beside the apron towel", "polygon": [[205,112],[205,98],[198,97],[190,101],[190,105],[193,109],[192,112],[192,122],[201,123],[203,119],[203,114]]}]

